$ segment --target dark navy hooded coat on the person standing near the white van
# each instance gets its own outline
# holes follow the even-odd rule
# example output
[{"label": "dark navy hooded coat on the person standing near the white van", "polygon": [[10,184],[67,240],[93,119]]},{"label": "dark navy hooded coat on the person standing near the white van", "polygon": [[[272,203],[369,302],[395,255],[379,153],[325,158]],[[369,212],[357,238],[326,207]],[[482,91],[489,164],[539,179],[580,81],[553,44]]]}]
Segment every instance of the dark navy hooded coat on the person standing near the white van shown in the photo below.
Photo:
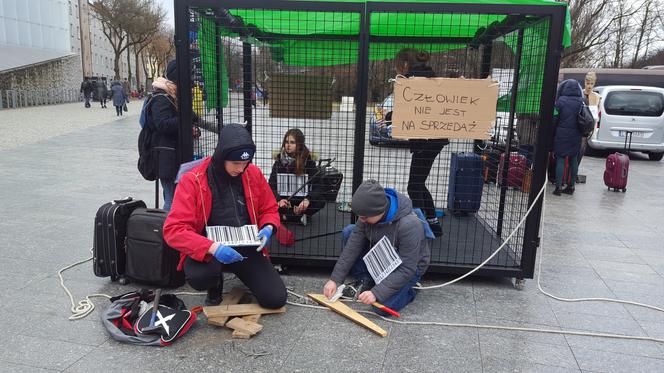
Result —
[{"label": "dark navy hooded coat on the person standing near the white van", "polygon": [[556,97],[558,115],[554,118],[553,151],[558,157],[576,156],[582,138],[577,127],[577,116],[583,105],[581,86],[576,80],[567,79],[560,83]]}]

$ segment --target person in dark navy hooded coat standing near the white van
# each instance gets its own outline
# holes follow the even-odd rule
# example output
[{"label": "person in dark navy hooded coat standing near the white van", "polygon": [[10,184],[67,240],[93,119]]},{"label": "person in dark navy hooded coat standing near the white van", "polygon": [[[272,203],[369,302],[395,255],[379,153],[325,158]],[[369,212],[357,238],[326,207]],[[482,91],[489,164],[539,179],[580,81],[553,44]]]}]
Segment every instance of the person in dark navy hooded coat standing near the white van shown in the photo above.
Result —
[{"label": "person in dark navy hooded coat standing near the white van", "polygon": [[[579,171],[578,156],[581,149],[582,135],[577,126],[577,116],[583,106],[581,86],[574,79],[560,83],[556,93],[556,110],[554,117],[553,152],[556,155],[556,189],[553,194],[573,194],[574,181]],[[570,169],[569,184],[562,189],[565,164]]]}]

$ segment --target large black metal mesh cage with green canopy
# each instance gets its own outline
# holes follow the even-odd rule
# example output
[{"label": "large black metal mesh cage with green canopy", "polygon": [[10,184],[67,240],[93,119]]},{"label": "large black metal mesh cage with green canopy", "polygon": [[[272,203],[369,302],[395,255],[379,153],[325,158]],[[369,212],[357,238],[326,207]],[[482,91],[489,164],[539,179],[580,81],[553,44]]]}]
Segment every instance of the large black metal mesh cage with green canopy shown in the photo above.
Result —
[{"label": "large black metal mesh cage with green canopy", "polygon": [[[373,178],[407,193],[411,151],[417,149],[381,133],[377,123],[392,90],[390,78],[397,75],[394,55],[415,48],[428,53],[436,76],[500,81],[491,140],[451,139],[435,157],[428,178],[421,175],[443,231],[434,242],[430,270],[454,274],[477,266],[534,204],[525,224],[478,272],[532,278],[541,215],[536,195],[545,181],[552,136],[563,6],[252,0],[175,4],[179,86],[191,87],[178,94],[181,160],[211,155],[219,128],[243,123],[257,145],[254,163],[273,185],[279,179],[277,199],[294,194],[291,201],[297,205],[307,193],[312,196],[306,213],[282,214],[284,229],[269,249],[273,262],[333,264],[342,249],[341,231],[354,221],[352,193],[363,180]],[[194,116],[201,118],[197,138],[191,130]],[[272,175],[280,159],[287,158],[282,141],[290,129],[304,134],[316,163],[308,174],[301,172],[307,179]],[[487,150],[502,157],[490,159]],[[482,155],[485,164],[480,208],[466,214],[447,208],[451,157],[462,152]],[[517,156],[526,162],[518,185],[509,182],[510,160]],[[491,177],[492,172],[498,174]],[[298,195],[289,183],[301,186],[303,180],[311,183]]]}]

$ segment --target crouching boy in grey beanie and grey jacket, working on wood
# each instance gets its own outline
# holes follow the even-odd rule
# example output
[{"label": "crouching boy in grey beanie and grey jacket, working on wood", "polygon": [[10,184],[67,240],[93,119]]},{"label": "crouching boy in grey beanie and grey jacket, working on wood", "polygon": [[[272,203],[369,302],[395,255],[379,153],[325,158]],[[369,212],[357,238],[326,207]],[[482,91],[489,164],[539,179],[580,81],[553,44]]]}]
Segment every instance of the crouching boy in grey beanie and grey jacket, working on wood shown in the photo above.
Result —
[{"label": "crouching boy in grey beanie and grey jacket, working on wood", "polygon": [[[415,299],[413,286],[420,280],[431,256],[433,233],[411,200],[375,180],[363,182],[355,191],[352,209],[357,224],[344,228],[343,250],[323,293],[330,298],[348,274],[359,284],[358,299],[380,302],[399,311]],[[391,242],[402,263],[375,286],[363,257],[383,237]],[[370,288],[370,289],[369,289]],[[374,308],[378,314],[387,316]]]}]

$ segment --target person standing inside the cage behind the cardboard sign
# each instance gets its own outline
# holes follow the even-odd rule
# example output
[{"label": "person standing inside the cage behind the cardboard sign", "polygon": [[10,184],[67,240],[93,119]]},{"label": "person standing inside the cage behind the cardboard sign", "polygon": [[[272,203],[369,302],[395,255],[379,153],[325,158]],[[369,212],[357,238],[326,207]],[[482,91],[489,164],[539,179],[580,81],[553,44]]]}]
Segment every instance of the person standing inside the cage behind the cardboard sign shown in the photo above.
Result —
[{"label": "person standing inside the cage behind the cardboard sign", "polygon": [[[428,52],[415,48],[404,48],[395,57],[397,74],[405,77],[420,76],[433,78],[436,73],[427,65],[430,55]],[[438,153],[449,144],[448,139],[410,140],[410,173],[408,175],[408,195],[413,201],[413,207],[420,208],[436,237],[443,234],[440,220],[436,216],[436,208],[431,192],[426,187],[426,181],[433,167]]]}]

